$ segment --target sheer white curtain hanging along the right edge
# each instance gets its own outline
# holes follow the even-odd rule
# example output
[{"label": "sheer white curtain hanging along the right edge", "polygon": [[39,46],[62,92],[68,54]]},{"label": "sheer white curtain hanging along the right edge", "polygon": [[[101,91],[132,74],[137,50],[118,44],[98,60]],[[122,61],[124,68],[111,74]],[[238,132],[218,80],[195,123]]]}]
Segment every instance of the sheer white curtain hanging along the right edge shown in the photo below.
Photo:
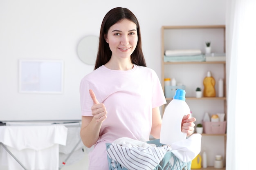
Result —
[{"label": "sheer white curtain hanging along the right edge", "polygon": [[256,0],[227,0],[226,170],[256,169]]}]

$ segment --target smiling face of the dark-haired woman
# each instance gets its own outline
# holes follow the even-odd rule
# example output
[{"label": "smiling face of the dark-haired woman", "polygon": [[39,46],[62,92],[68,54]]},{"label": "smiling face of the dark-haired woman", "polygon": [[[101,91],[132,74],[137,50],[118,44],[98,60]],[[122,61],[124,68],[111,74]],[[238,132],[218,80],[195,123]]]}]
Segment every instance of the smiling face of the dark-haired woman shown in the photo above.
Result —
[{"label": "smiling face of the dark-haired woman", "polygon": [[110,27],[105,40],[112,51],[111,57],[129,58],[137,46],[137,26],[130,20],[121,20]]}]

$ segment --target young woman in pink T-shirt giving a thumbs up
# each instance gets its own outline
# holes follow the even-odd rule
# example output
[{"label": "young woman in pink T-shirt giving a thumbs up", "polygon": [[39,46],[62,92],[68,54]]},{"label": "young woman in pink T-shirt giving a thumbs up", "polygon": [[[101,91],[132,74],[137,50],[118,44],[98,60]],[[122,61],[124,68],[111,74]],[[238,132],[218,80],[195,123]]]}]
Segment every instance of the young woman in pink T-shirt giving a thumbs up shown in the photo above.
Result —
[{"label": "young woman in pink T-shirt giving a thumbs up", "polygon": [[[155,71],[146,67],[139,22],[126,8],[114,8],[104,17],[99,51],[92,73],[80,84],[81,139],[90,153],[89,170],[108,170],[106,143],[120,137],[159,139],[166,104]],[[195,118],[184,116],[182,131],[191,135]]]}]

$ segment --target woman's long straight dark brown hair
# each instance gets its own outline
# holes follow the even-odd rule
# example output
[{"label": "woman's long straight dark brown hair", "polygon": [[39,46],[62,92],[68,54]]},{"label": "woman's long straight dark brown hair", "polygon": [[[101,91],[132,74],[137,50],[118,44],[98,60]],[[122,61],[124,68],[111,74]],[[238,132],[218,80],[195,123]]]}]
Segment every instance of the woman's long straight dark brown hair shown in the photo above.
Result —
[{"label": "woman's long straight dark brown hair", "polygon": [[135,17],[135,15],[129,9],[117,7],[108,11],[108,13],[103,18],[103,21],[101,24],[101,31],[99,35],[99,49],[98,49],[94,70],[106,64],[110,60],[112,55],[112,52],[109,48],[108,43],[104,38],[104,35],[108,34],[108,30],[112,25],[124,19],[128,19],[134,22],[137,26],[138,42],[135,50],[131,55],[131,61],[133,64],[136,64],[139,66],[146,66],[145,58],[141,49],[141,35],[140,35],[139,22]]}]

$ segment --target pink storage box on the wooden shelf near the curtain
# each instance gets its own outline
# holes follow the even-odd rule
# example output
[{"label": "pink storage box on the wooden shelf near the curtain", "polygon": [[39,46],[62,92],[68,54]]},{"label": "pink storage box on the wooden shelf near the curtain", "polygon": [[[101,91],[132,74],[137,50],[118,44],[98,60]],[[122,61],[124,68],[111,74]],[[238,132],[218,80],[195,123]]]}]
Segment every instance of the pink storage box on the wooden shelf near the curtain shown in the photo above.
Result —
[{"label": "pink storage box on the wooden shelf near the curtain", "polygon": [[219,122],[203,122],[203,132],[206,134],[225,134],[226,133],[226,121]]}]

